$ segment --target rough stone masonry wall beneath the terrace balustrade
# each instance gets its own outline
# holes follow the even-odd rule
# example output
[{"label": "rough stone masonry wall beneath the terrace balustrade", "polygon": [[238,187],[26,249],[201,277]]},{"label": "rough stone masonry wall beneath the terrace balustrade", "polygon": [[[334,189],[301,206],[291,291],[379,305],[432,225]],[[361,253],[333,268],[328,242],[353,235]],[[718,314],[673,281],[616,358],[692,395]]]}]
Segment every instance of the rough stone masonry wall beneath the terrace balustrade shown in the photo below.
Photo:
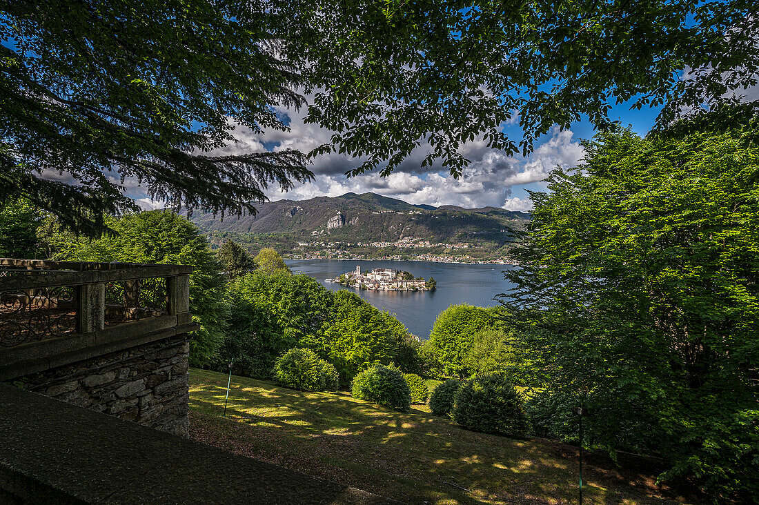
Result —
[{"label": "rough stone masonry wall beneath the terrace balustrade", "polygon": [[175,336],[12,381],[26,390],[188,436],[187,336]]}]

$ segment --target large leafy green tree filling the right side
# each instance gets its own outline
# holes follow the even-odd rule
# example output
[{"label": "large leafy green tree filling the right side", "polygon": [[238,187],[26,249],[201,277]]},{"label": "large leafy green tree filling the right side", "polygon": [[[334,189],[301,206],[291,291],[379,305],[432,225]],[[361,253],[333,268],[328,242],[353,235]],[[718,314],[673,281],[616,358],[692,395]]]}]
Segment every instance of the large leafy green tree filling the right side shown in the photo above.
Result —
[{"label": "large leafy green tree filling the right side", "polygon": [[[663,478],[759,498],[759,144],[756,119],[629,130],[533,194],[509,305],[553,415],[608,450],[656,450]],[[540,406],[538,406],[540,407]],[[533,407],[534,409],[535,407]]]}]

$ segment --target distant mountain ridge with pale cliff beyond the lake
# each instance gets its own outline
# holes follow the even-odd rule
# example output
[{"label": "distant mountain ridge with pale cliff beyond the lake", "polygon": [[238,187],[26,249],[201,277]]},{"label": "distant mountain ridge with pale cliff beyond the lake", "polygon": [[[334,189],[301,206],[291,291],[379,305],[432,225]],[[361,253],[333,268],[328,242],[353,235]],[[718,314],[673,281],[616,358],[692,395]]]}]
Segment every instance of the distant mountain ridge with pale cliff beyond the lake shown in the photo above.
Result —
[{"label": "distant mountain ridge with pale cliff beyond the lake", "polygon": [[194,213],[204,232],[285,234],[329,241],[504,241],[504,230],[521,227],[528,213],[497,207],[465,209],[408,204],[374,193],[346,193],[310,200],[276,200],[258,204],[257,216],[241,218]]}]

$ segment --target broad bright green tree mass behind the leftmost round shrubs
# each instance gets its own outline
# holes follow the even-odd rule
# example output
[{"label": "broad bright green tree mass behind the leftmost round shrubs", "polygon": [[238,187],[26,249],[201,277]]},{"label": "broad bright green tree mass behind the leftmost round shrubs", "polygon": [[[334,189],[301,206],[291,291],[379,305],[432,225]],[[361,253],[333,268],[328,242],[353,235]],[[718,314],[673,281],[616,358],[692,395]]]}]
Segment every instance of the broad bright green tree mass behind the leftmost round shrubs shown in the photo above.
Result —
[{"label": "broad bright green tree mass behind the leftmost round shrubs", "polygon": [[268,378],[276,358],[298,346],[332,363],[349,382],[361,370],[398,359],[409,338],[391,314],[303,274],[256,270],[229,284],[228,299],[228,336],[214,365],[219,370],[235,358],[235,371]]}]

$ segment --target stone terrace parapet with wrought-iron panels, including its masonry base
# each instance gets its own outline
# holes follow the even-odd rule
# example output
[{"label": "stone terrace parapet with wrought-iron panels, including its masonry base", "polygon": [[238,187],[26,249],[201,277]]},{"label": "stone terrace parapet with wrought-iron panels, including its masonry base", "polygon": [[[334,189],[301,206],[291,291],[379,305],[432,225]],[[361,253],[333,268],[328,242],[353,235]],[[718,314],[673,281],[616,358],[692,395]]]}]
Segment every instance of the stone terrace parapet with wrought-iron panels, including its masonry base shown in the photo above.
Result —
[{"label": "stone terrace parapet with wrought-iron panels, including its masonry base", "polygon": [[0,258],[0,381],[187,437],[191,271]]}]

